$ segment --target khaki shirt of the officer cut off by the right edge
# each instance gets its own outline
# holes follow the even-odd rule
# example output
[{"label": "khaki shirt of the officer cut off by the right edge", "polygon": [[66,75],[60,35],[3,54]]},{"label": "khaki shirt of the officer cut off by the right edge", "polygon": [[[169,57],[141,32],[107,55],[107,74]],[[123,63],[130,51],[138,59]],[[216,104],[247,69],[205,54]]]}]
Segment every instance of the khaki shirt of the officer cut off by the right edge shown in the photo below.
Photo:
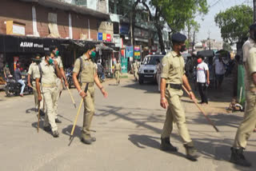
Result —
[{"label": "khaki shirt of the officer cut off by the right edge", "polygon": [[252,78],[252,74],[256,73],[256,46],[251,47],[249,50],[249,55],[245,62],[246,69],[246,90],[251,90],[256,92],[256,85]]}]

